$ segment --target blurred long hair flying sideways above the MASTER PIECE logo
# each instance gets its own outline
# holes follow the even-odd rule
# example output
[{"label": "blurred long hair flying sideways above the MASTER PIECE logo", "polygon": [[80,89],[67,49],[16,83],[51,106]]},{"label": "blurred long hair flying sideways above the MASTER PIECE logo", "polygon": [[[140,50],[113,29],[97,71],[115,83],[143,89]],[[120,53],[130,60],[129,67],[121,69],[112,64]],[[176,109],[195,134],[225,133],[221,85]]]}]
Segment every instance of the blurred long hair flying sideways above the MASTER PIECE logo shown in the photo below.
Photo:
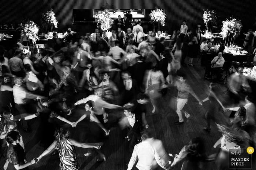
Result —
[{"label": "blurred long hair flying sideways above the MASTER PIECE logo", "polygon": [[241,134],[238,134],[229,127],[220,124],[217,124],[217,126],[219,128],[219,132],[225,136],[227,142],[242,143],[244,141],[244,137]]}]

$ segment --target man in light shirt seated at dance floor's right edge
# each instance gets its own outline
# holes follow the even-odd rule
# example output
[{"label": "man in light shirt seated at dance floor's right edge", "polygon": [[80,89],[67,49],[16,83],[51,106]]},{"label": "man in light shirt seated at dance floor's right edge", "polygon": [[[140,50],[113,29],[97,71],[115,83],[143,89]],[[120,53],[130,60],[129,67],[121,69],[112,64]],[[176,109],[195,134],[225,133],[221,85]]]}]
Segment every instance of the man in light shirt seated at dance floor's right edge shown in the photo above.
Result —
[{"label": "man in light shirt seated at dance floor's right edge", "polygon": [[216,73],[219,70],[219,67],[223,67],[224,63],[225,60],[222,57],[222,52],[219,52],[218,56],[214,57],[211,61],[212,65],[206,67],[204,78],[211,79],[212,74]]}]

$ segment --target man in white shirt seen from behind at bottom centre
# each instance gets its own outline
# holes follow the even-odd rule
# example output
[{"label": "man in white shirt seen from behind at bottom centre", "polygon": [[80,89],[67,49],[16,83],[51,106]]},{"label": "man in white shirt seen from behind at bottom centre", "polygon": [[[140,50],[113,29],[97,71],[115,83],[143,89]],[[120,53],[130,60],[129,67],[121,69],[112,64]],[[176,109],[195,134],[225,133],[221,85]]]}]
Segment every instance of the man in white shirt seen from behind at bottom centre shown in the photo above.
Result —
[{"label": "man in white shirt seen from behind at bottom centre", "polygon": [[151,145],[150,133],[148,131],[144,131],[141,134],[141,138],[142,142],[135,145],[133,149],[132,157],[128,164],[127,170],[132,169],[137,158],[139,159],[139,161],[135,167],[136,170],[152,170],[154,158],[157,161],[158,165],[161,166],[163,169],[169,169],[166,168],[166,166],[162,163],[156,147],[154,145]]}]

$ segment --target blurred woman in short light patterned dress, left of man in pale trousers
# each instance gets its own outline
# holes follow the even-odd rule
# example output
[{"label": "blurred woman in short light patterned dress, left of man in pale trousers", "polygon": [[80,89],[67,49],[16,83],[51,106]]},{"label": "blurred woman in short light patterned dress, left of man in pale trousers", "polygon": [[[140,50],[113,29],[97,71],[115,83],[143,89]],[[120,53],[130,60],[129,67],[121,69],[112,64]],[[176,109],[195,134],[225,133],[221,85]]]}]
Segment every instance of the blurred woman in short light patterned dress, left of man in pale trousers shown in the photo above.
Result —
[{"label": "blurred woman in short light patterned dress, left of man in pale trousers", "polygon": [[153,105],[152,113],[155,112],[155,99],[162,96],[161,89],[165,84],[165,78],[163,77],[162,71],[158,70],[158,65],[156,65],[148,73],[147,83],[146,83],[146,94],[150,97],[151,103]]}]

